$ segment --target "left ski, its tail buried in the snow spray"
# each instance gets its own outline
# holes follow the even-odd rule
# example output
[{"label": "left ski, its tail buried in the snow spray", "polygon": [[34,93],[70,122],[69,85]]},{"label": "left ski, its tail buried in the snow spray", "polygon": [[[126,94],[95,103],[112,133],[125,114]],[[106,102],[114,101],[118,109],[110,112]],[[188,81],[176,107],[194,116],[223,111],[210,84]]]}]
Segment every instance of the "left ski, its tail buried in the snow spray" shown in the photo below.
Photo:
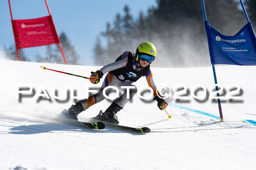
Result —
[{"label": "left ski, its tail buried in the snow spray", "polygon": [[93,121],[89,123],[89,122],[80,122],[80,121],[71,120],[71,119],[57,119],[57,120],[64,123],[71,124],[71,125],[75,125],[75,126],[86,127],[89,129],[101,130],[105,128],[105,124],[99,121]]}]

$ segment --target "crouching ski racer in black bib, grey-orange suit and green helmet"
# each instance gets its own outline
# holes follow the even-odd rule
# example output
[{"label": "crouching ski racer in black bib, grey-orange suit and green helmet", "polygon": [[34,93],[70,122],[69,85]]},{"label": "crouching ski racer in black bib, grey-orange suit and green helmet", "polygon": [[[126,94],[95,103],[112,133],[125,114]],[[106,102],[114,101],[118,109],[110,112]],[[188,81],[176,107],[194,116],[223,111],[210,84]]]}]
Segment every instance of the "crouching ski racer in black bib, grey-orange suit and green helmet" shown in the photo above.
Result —
[{"label": "crouching ski racer in black bib, grey-orange suit and green helmet", "polygon": [[[155,59],[156,54],[157,50],[155,46],[152,43],[144,42],[139,44],[135,54],[130,51],[125,51],[114,63],[110,63],[100,70],[91,72],[90,82],[93,84],[99,83],[103,75],[108,73],[100,90],[97,94],[89,96],[88,99],[76,102],[75,105],[72,105],[68,110],[65,109],[62,113],[69,119],[78,120],[77,116],[79,113],[105,99],[103,96],[103,89],[105,87],[115,86],[119,90],[125,90],[124,88],[121,89],[121,86],[128,86],[130,87],[129,90],[133,91],[129,93],[129,98],[127,96],[127,90],[124,91],[119,98],[114,99],[113,103],[110,104],[105,112],[100,111],[99,114],[93,118],[104,122],[118,124],[119,122],[116,114],[123,109],[125,104],[135,95],[137,88],[134,82],[142,76],[146,76],[148,86],[153,89],[155,96],[154,100],[157,100],[159,109],[165,109],[168,104],[161,98],[161,95],[157,91],[157,87],[153,81],[153,74],[150,69],[150,64]],[[106,94],[108,95],[111,90],[111,88],[108,88]]]}]

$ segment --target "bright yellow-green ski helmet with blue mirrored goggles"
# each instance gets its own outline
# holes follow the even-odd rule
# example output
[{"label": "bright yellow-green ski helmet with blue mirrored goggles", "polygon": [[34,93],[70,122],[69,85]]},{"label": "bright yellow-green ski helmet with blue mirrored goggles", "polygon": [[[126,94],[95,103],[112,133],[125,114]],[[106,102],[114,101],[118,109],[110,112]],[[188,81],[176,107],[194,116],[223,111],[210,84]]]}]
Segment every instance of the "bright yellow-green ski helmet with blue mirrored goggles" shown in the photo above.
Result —
[{"label": "bright yellow-green ski helmet with blue mirrored goggles", "polygon": [[157,49],[152,43],[144,42],[141,43],[136,49],[135,59],[139,62],[139,60],[146,61],[151,64],[157,55]]}]

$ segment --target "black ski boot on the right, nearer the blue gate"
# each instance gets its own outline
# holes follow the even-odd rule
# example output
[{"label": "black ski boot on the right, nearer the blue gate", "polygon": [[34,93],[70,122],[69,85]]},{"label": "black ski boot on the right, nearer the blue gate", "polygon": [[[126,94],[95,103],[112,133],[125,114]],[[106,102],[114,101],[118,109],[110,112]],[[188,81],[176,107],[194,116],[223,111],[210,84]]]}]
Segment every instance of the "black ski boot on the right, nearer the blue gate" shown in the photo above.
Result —
[{"label": "black ski boot on the right, nearer the blue gate", "polygon": [[120,107],[116,103],[112,103],[105,112],[102,110],[99,111],[99,114],[95,116],[93,119],[100,120],[103,122],[113,123],[113,124],[119,124],[117,120],[117,112],[120,111],[123,107]]}]

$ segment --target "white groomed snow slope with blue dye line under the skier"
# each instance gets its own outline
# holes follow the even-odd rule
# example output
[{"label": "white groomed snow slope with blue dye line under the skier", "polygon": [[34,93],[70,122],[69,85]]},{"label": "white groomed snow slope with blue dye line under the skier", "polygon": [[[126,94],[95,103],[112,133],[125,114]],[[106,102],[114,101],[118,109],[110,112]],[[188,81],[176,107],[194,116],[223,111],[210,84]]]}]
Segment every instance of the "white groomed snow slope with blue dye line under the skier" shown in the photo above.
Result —
[{"label": "white groomed snow slope with blue dye line under the skier", "polygon": [[[217,100],[208,99],[214,90],[210,87],[214,84],[211,67],[153,67],[156,85],[165,84],[171,89],[166,110],[172,119],[158,109],[155,101],[151,102],[152,98],[142,100],[138,94],[117,114],[121,125],[146,126],[151,129],[148,134],[109,127],[90,130],[54,120],[65,108],[84,99],[86,86],[92,84],[87,79],[42,70],[39,66],[82,76],[90,76],[91,71],[101,68],[1,59],[0,169],[249,170],[256,167],[255,66],[215,67],[218,83],[224,88],[220,93],[224,97],[221,99],[224,122],[219,119]],[[206,88],[206,95],[202,88],[193,88],[196,84]],[[240,90],[232,84],[237,84]],[[99,88],[92,86],[89,89]],[[146,79],[141,78],[136,86],[147,86]],[[174,93],[184,86],[187,90],[176,95],[188,98],[173,99]],[[241,99],[226,99],[230,91],[235,91],[231,96]],[[167,90],[162,92],[167,94]],[[192,92],[205,97],[196,99]],[[148,96],[149,92],[141,94]],[[79,120],[97,115],[111,101],[95,104],[79,114]]]}]

